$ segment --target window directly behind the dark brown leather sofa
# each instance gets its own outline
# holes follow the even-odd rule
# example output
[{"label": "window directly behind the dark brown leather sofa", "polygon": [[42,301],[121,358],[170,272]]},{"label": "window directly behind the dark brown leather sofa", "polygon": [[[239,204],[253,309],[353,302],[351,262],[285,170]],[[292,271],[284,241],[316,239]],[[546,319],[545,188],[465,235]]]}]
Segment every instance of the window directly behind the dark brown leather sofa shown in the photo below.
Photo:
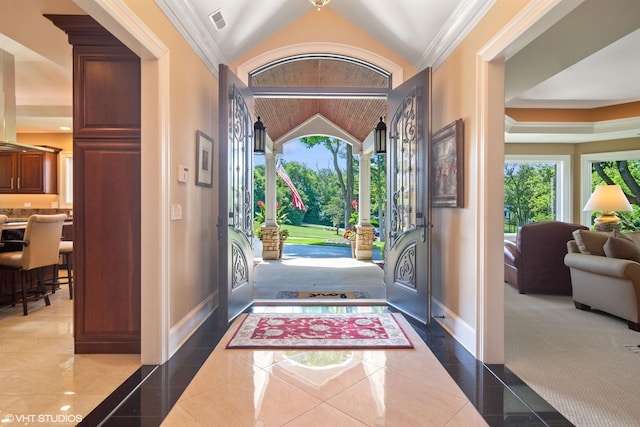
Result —
[{"label": "window directly behind the dark brown leather sofa", "polygon": [[569,156],[505,156],[504,231],[523,224],[570,221]]}]

